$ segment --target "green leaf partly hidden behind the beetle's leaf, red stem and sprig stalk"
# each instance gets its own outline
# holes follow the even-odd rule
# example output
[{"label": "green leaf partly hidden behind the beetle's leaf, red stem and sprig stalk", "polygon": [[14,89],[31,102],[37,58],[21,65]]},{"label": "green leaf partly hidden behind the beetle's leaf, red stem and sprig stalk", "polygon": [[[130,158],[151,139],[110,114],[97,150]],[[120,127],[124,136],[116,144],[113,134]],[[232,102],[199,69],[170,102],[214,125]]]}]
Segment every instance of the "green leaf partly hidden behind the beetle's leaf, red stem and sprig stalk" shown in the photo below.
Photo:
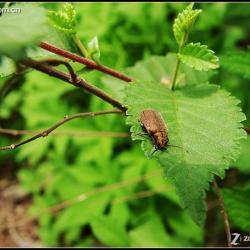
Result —
[{"label": "green leaf partly hidden behind the beetle's leaf, red stem and sprig stalk", "polygon": [[[133,67],[126,68],[124,73],[136,80],[162,82],[170,86],[176,61],[177,56],[174,53],[168,53],[166,56],[152,56],[149,59],[136,63]],[[211,72],[199,72],[185,64],[181,64],[179,76],[177,77],[177,85],[184,86],[207,83],[210,76]],[[110,76],[103,77],[102,81],[117,99],[123,101],[126,83]]]}]

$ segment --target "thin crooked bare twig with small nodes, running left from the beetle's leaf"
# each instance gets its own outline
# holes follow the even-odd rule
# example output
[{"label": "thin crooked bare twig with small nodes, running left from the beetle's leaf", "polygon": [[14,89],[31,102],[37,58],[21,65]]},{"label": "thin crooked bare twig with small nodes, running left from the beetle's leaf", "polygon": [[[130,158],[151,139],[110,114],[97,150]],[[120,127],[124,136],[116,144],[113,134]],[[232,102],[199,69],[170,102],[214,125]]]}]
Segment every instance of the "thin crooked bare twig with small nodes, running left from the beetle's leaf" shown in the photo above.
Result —
[{"label": "thin crooked bare twig with small nodes, running left from the beetle's leaf", "polygon": [[69,116],[65,116],[63,120],[58,121],[57,123],[55,123],[53,126],[51,126],[50,128],[32,136],[31,138],[24,140],[22,142],[19,142],[17,144],[11,144],[9,146],[4,146],[4,147],[0,147],[0,150],[10,150],[10,149],[15,149],[17,147],[20,147],[21,145],[24,145],[26,143],[29,143],[31,141],[34,141],[40,137],[46,137],[48,136],[52,131],[54,131],[55,129],[57,129],[58,127],[60,127],[61,125],[63,125],[64,123],[71,121],[73,119],[76,118],[80,118],[80,117],[86,117],[86,116],[98,116],[98,115],[106,115],[106,114],[121,114],[122,112],[120,110],[108,110],[108,111],[100,111],[100,112],[85,112],[85,113],[78,113],[78,114],[74,114],[74,115],[69,115]]}]

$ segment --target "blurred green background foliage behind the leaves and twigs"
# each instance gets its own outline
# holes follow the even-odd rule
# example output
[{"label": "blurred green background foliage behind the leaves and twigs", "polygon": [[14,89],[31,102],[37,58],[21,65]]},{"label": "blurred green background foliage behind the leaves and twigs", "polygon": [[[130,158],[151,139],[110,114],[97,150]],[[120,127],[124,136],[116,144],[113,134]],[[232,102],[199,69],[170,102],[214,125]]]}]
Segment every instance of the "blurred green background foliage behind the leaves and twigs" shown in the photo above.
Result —
[{"label": "blurred green background foliage behind the leaves and twigs", "polygon": [[[62,3],[42,5],[57,10]],[[101,63],[119,70],[151,55],[176,52],[173,20],[186,3],[74,3],[74,6],[81,40],[87,42],[97,35]],[[203,13],[190,34],[191,41],[208,45],[219,57],[248,49],[250,4],[196,3],[195,7],[203,9]],[[98,72],[87,75],[89,81],[112,93],[102,77]],[[222,64],[211,82],[221,84],[239,98],[249,117],[249,80],[230,73]],[[30,72],[15,91],[0,100],[0,127],[41,130],[66,114],[105,109],[110,106],[84,91],[42,73]],[[246,121],[245,125],[250,123]],[[225,245],[223,221],[212,193],[207,198],[207,223],[200,228],[180,208],[171,183],[164,179],[156,161],[146,159],[140,143],[129,137],[98,134],[67,136],[65,131],[126,133],[129,127],[119,115],[78,119],[59,128],[57,135],[15,151],[0,152],[0,212],[10,208],[6,216],[15,214],[15,223],[20,221],[20,225],[14,223],[19,240],[9,227],[1,224],[2,246],[20,246],[23,242],[31,246]],[[0,143],[9,145],[26,137],[1,134]],[[247,140],[223,186],[247,182],[249,148]],[[15,191],[6,194],[12,187]],[[16,211],[16,207],[23,212]],[[53,207],[54,213],[48,207]],[[250,233],[250,228],[242,228],[237,220],[231,222],[233,232]]]}]

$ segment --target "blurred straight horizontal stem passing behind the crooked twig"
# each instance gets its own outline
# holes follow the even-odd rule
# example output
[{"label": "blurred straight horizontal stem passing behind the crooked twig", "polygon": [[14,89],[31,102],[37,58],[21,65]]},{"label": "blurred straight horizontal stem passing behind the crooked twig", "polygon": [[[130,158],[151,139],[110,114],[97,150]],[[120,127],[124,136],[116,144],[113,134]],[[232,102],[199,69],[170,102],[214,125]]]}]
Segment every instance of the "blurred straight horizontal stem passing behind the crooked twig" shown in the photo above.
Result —
[{"label": "blurred straight horizontal stem passing behind the crooked twig", "polygon": [[[37,130],[17,130],[0,128],[0,134],[19,136],[19,135],[35,135]],[[55,131],[52,136],[76,136],[76,137],[113,137],[113,138],[128,138],[129,133],[125,132],[110,132],[110,131]]]}]

